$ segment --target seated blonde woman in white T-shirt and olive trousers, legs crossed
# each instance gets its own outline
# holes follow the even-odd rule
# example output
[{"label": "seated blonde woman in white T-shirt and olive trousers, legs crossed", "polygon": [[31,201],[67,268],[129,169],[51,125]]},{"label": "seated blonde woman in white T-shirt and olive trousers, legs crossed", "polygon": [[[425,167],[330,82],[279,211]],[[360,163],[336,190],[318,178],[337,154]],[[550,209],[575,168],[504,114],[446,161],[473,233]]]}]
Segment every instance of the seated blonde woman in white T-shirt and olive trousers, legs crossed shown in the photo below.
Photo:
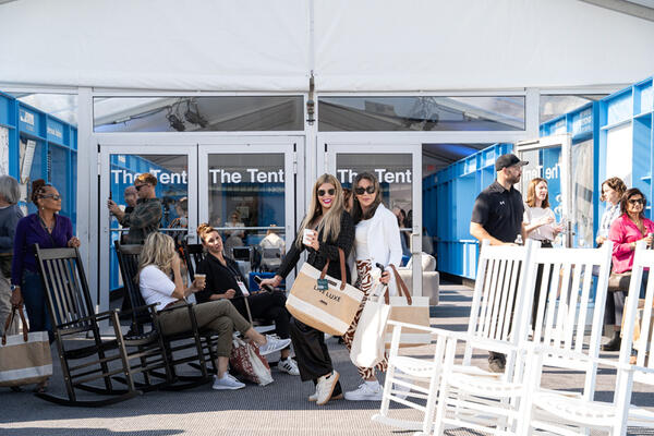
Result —
[{"label": "seated blonde woman in white T-shirt and olive trousers, legs crossed", "polygon": [[[158,304],[159,311],[183,303],[184,299],[205,286],[204,279],[196,279],[186,288],[180,272],[181,259],[174,251],[174,241],[167,234],[150,233],[145,240],[138,262],[138,286],[146,304]],[[172,272],[172,280],[170,274]],[[227,300],[213,301],[193,307],[198,327],[206,327],[218,335],[216,353],[218,370],[215,376],[214,389],[241,389],[245,387],[227,371],[229,354],[232,348],[232,332],[238,330],[244,338],[252,340],[259,352],[269,354],[289,346],[290,339],[265,337],[256,331],[237,312]],[[160,314],[161,332],[174,335],[191,330],[191,319],[187,311],[169,311]]]}]

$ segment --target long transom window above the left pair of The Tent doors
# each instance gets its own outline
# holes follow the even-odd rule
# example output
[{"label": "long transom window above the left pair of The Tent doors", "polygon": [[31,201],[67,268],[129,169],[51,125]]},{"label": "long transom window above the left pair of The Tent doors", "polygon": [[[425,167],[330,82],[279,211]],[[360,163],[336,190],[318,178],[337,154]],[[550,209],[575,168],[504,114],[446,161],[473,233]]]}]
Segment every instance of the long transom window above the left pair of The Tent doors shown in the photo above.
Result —
[{"label": "long transom window above the left pair of The Tent doors", "polygon": [[96,132],[304,130],[302,96],[96,97]]}]

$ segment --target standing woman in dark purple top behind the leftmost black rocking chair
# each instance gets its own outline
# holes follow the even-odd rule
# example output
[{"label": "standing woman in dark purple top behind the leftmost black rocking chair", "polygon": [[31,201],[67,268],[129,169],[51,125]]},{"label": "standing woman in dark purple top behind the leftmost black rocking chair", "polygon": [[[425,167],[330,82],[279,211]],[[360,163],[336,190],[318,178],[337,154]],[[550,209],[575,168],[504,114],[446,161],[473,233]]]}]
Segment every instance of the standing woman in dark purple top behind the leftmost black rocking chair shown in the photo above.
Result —
[{"label": "standing woman in dark purple top behind the leftmost black rocking chair", "polygon": [[[37,208],[34,214],[21,218],[14,237],[14,254],[11,267],[12,295],[14,305],[25,303],[32,331],[48,331],[50,342],[55,340],[48,316],[45,290],[36,266],[34,244],[41,249],[80,246],[80,240],[73,235],[73,225],[66,217],[59,215],[61,195],[43,179],[32,183],[32,203]],[[37,386],[45,391],[47,383]]]}]

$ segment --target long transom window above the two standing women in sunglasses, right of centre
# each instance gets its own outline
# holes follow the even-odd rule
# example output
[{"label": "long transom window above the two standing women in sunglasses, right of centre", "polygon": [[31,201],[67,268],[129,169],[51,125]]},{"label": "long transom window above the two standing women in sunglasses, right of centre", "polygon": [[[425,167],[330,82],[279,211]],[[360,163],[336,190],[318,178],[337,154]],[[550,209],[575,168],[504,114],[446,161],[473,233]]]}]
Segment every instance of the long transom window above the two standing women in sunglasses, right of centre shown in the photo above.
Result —
[{"label": "long transom window above the two standing women in sunglasses, right of centre", "polygon": [[524,97],[320,97],[318,130],[524,130]]}]

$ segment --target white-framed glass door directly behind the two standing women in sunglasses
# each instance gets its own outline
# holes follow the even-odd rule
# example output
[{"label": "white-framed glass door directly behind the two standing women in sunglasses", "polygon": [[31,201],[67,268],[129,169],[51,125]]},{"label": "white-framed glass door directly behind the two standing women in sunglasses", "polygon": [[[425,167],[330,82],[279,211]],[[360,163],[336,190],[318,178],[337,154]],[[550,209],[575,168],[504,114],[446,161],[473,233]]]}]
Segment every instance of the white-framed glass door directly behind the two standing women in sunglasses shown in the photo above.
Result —
[{"label": "white-framed glass door directly behind the two standing women in sunglasses", "polygon": [[422,295],[422,146],[421,144],[325,144],[325,170],[343,187],[360,172],[372,172],[382,185],[384,205],[398,216],[403,240],[402,264],[412,262],[413,294]]}]

